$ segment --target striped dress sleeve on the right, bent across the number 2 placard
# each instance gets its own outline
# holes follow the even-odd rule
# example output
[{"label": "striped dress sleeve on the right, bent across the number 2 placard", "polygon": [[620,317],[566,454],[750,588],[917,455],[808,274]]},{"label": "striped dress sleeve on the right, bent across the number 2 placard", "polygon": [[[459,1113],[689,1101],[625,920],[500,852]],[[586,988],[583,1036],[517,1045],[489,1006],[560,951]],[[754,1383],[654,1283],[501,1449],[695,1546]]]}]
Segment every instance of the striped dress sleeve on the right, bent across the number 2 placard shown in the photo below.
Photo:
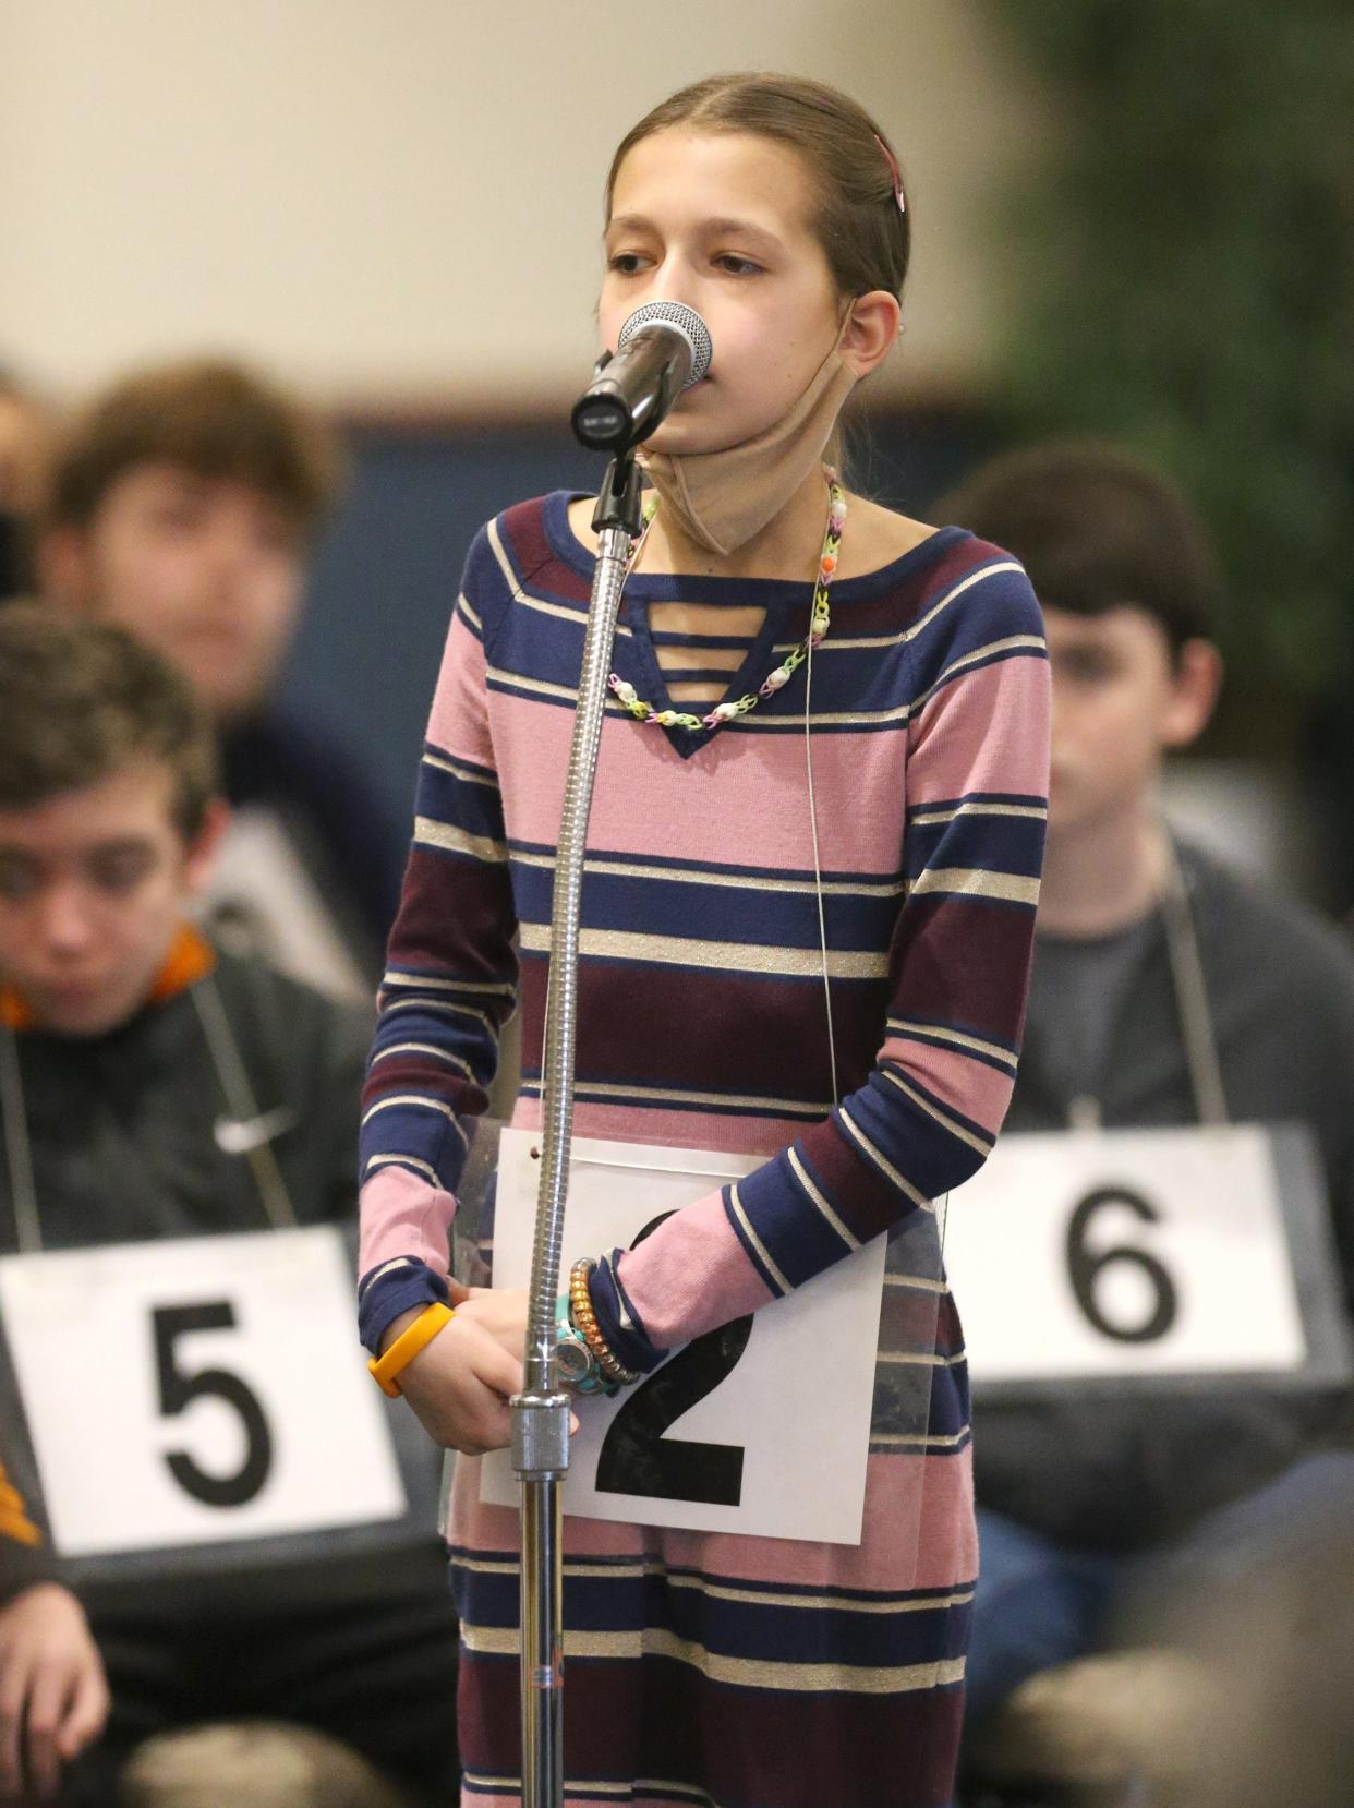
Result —
[{"label": "striped dress sleeve on the right, bent across the number 2 placard", "polygon": [[866,1083],[736,1186],[674,1213],[593,1284],[633,1367],[803,1285],[960,1186],[1016,1072],[1043,859],[1048,664],[1012,560],[909,647],[907,890]]}]

